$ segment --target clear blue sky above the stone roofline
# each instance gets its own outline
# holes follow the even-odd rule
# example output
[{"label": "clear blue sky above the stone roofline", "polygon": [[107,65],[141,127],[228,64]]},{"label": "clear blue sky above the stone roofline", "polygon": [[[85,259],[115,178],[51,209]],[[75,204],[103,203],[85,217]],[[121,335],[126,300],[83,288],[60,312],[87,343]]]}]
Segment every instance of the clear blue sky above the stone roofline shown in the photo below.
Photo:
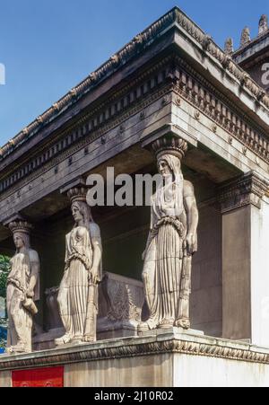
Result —
[{"label": "clear blue sky above the stone roofline", "polygon": [[269,14],[268,0],[0,0],[0,145],[174,5],[221,46]]}]

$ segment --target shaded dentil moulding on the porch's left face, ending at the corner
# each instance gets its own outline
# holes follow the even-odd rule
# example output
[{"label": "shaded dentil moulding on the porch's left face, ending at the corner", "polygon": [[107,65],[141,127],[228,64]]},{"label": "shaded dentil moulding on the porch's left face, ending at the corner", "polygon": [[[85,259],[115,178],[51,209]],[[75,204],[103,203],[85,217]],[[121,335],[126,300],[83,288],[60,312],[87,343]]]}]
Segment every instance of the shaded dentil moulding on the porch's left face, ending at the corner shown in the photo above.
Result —
[{"label": "shaded dentil moulding on the porch's left face, ending at the corner", "polygon": [[[140,76],[139,81],[135,80],[133,86],[128,84],[125,92],[119,92],[117,97],[114,93],[113,97],[102,103],[99,108],[84,114],[74,125],[54,136],[46,147],[43,146],[40,151],[36,151],[30,160],[28,158],[15,170],[12,168],[12,172],[7,176],[3,171],[0,176],[0,200],[9,196],[14,189],[22,188],[26,183],[47,172],[51,167],[56,169],[59,163],[72,159],[72,155],[78,150],[84,148],[84,154],[90,154],[91,143],[100,138],[101,144],[105,144],[109,130],[118,127],[119,134],[122,134],[126,119],[143,111],[152,102],[158,101],[162,107],[166,102],[169,103],[170,99],[166,97],[171,90],[167,80],[170,60],[171,57],[164,58],[160,64],[156,64],[154,68]],[[143,120],[145,117],[141,116],[140,119]],[[68,164],[71,165],[72,161]]]}]

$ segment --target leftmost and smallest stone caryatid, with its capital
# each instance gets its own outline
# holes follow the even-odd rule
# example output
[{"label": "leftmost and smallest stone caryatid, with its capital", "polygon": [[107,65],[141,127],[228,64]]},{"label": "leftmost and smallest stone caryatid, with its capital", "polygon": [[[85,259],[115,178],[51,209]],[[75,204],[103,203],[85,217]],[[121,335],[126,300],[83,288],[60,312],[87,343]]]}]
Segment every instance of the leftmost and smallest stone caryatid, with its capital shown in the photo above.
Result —
[{"label": "leftmost and smallest stone caryatid, with its capital", "polygon": [[32,226],[28,222],[14,221],[9,228],[16,253],[7,277],[7,351],[23,353],[31,351],[33,315],[38,313],[35,301],[39,300],[39,254],[30,249]]}]

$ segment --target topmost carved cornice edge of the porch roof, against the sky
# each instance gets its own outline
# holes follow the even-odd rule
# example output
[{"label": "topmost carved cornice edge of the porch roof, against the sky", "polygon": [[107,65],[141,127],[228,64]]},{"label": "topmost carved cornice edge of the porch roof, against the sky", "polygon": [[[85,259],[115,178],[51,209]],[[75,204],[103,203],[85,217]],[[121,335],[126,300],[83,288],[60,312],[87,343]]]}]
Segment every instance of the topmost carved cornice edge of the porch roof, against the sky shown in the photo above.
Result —
[{"label": "topmost carved cornice edge of the porch roof, against the sky", "polygon": [[217,59],[221,66],[225,68],[234,79],[251,92],[256,101],[263,102],[264,106],[269,108],[269,97],[264,90],[256,84],[250,77],[246,77],[246,72],[242,70],[230,57],[228,57],[209,37],[202,31],[195,22],[192,22],[185,13],[182,13],[178,7],[173,8],[166,13],[160,20],[154,22],[149,28],[134,37],[126,47],[120,49],[117,54],[110,57],[108,62],[100,66],[95,72],[91,73],[81,84],[78,84],[70,92],[57,101],[51,108],[41,114],[28,127],[24,128],[17,136],[14,136],[6,145],[0,149],[2,159],[10,154],[14,148],[19,147],[31,136],[36,135],[39,129],[44,125],[56,119],[63,111],[69,108],[74,102],[78,101],[92,88],[103,82],[117,71],[118,68],[125,66],[132,58],[140,55],[146,48],[150,47],[155,40],[159,40],[161,34],[165,33],[173,24],[178,24],[181,31],[187,34],[206,51],[208,55]]}]

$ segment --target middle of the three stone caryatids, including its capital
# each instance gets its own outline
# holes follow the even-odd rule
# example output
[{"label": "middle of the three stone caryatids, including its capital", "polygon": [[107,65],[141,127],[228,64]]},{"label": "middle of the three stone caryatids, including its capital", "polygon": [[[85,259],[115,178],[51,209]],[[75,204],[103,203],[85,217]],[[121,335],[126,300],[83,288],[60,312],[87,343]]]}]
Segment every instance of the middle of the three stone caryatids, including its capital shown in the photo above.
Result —
[{"label": "middle of the three stone caryatids, including its capital", "polygon": [[78,187],[67,193],[74,227],[65,237],[65,272],[57,296],[65,335],[56,339],[56,345],[96,340],[102,247],[100,228],[93,222],[86,192]]}]

